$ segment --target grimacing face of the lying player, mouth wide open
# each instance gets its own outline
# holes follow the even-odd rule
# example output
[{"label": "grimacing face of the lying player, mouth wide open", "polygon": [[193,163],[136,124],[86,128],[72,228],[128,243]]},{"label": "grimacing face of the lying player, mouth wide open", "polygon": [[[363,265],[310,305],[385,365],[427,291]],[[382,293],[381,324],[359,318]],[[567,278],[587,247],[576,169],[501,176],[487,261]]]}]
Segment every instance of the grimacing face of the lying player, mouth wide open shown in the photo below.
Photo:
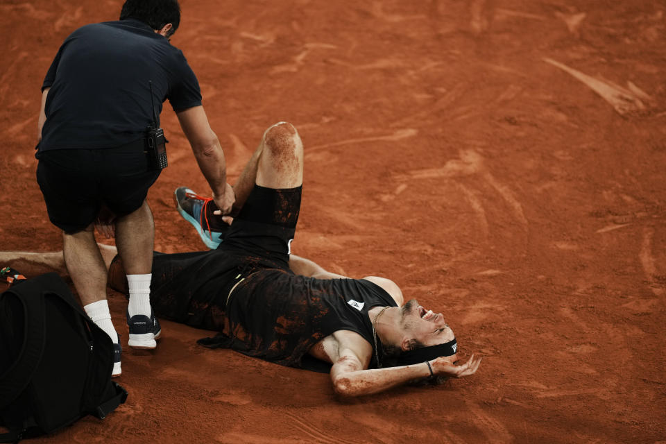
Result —
[{"label": "grimacing face of the lying player, mouth wide open", "polygon": [[[425,347],[452,341],[455,337],[441,313],[421,307],[416,299],[402,307],[401,315],[404,330]],[[454,361],[456,355],[450,358]]]}]

